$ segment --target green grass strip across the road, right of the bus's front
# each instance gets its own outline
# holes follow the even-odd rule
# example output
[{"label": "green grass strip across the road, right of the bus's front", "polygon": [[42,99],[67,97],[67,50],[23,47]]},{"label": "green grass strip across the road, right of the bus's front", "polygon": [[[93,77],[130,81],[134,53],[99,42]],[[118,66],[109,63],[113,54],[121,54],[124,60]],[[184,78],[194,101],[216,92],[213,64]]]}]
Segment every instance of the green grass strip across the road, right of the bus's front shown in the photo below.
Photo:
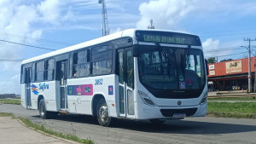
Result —
[{"label": "green grass strip across the road, right of the bus's front", "polygon": [[256,118],[256,102],[208,102],[207,116]]}]

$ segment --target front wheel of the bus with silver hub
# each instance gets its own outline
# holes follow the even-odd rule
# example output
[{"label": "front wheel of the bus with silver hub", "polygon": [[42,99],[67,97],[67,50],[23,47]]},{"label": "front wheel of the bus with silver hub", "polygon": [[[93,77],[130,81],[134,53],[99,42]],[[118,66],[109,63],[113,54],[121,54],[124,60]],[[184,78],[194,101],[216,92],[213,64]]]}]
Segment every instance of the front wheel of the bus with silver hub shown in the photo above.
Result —
[{"label": "front wheel of the bus with silver hub", "polygon": [[111,123],[111,117],[108,115],[108,106],[105,100],[101,99],[98,102],[96,113],[99,124],[108,127]]}]

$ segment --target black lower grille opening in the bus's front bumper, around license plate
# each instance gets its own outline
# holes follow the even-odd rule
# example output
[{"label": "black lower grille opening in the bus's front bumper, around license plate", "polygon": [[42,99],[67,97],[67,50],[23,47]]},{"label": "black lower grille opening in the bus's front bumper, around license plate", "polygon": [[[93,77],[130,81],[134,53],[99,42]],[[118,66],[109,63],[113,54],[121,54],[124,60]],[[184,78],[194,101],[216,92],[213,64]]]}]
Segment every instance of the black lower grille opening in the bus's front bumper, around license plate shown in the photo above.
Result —
[{"label": "black lower grille opening in the bus's front bumper, around license plate", "polygon": [[186,117],[193,116],[197,108],[185,108],[185,109],[160,109],[160,112],[164,117],[173,117],[174,113],[186,113]]}]

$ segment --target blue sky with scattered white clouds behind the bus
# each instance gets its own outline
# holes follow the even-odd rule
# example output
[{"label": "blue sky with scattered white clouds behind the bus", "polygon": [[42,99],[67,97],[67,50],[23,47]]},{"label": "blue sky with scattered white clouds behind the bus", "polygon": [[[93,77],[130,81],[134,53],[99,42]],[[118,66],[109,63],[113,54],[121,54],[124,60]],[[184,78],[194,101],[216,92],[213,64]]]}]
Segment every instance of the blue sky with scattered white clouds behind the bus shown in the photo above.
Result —
[{"label": "blue sky with scattered white clouds behind the bus", "polygon": [[[105,0],[110,33],[129,28],[189,32],[205,57],[247,57],[256,38],[254,0]],[[102,37],[97,0],[0,0],[0,94],[20,94],[20,61]],[[38,49],[17,43],[46,48]],[[256,41],[252,41],[256,53]]]}]

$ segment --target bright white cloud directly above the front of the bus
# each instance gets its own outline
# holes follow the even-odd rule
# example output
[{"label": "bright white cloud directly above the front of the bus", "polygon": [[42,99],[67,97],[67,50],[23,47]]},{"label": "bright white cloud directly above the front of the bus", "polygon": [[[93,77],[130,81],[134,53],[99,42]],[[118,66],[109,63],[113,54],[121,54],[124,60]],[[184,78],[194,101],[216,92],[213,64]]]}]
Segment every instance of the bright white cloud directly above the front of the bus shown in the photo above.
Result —
[{"label": "bright white cloud directly above the front of the bus", "polygon": [[195,0],[157,0],[142,3],[139,7],[142,17],[137,22],[137,28],[147,28],[149,20],[153,19],[156,28],[168,29],[194,9]]}]

